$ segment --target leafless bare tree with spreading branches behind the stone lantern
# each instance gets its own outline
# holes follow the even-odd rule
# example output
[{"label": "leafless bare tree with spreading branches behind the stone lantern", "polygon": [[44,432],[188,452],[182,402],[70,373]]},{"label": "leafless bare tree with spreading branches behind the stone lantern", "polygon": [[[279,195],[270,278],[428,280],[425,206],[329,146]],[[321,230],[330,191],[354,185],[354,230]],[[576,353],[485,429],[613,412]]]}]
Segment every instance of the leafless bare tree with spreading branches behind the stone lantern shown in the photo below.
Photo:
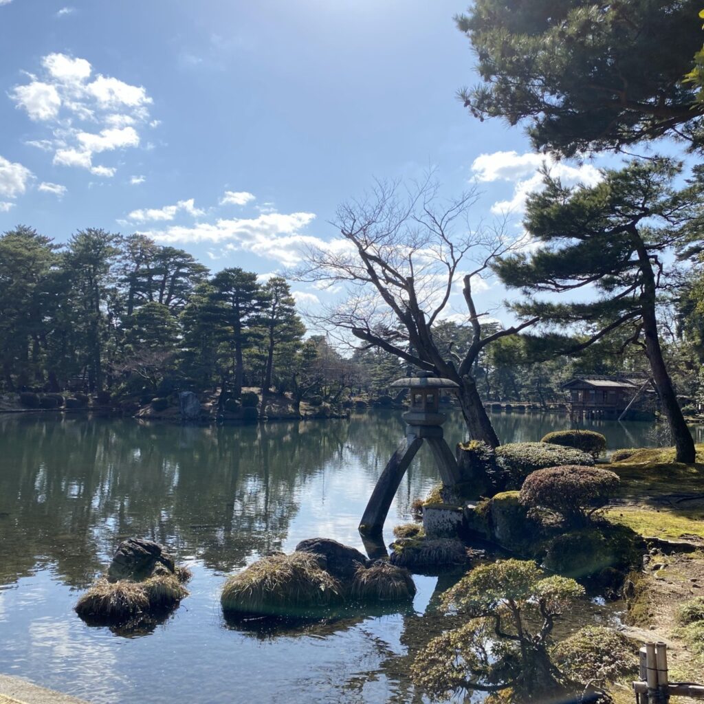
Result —
[{"label": "leafless bare tree with spreading branches behind the stone lantern", "polygon": [[[459,384],[458,397],[467,429],[474,439],[491,446],[499,441],[484,410],[472,375],[487,345],[533,325],[537,318],[482,334],[482,318],[472,285],[488,273],[499,256],[520,243],[508,241],[503,226],[472,228],[470,209],[477,202],[471,189],[442,201],[430,172],[421,182],[375,182],[362,199],[344,203],[333,225],[343,239],[306,251],[294,272],[300,281],[325,287],[344,284],[344,299],[315,315],[326,329],[351,333],[370,346]],[[441,353],[434,325],[451,310],[455,286],[462,286],[467,324],[472,329],[465,348]]]}]

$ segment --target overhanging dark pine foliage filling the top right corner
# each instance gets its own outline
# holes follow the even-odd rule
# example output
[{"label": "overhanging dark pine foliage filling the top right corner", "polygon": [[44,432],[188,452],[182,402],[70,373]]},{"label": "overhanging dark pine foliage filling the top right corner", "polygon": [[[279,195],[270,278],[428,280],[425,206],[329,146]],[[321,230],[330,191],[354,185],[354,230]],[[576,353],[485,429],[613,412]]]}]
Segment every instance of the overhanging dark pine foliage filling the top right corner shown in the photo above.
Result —
[{"label": "overhanging dark pine foliage filling the top right corner", "polygon": [[477,0],[458,27],[482,84],[479,118],[528,122],[536,149],[619,149],[669,136],[700,146],[704,103],[684,77],[702,46],[700,0]]}]

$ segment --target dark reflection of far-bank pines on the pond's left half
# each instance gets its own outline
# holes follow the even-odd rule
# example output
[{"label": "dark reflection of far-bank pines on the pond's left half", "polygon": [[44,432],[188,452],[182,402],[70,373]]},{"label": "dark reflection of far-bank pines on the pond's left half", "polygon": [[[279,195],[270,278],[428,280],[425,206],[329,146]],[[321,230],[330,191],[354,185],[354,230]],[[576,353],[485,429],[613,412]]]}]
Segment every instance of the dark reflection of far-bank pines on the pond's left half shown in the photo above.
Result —
[{"label": "dark reflection of far-bank pines on the pond's left half", "polygon": [[56,563],[87,586],[131,535],[241,567],[280,549],[301,487],[340,458],[346,422],[246,427],[0,419],[0,581]]}]

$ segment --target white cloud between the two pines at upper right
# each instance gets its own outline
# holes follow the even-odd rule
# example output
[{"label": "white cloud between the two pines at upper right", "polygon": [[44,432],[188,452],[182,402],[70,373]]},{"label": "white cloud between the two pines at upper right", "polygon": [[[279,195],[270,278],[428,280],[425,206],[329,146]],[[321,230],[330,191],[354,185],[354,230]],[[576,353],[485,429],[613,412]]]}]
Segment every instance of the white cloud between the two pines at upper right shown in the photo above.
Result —
[{"label": "white cloud between the two pines at upper right", "polygon": [[497,201],[491,206],[495,214],[522,213],[527,196],[543,188],[543,175],[539,169],[546,165],[553,176],[565,185],[582,183],[594,186],[601,181],[601,173],[591,164],[572,166],[563,161],[555,161],[549,155],[517,151],[496,151],[481,154],[472,162],[472,171],[479,181],[511,181],[513,195],[505,201]]}]

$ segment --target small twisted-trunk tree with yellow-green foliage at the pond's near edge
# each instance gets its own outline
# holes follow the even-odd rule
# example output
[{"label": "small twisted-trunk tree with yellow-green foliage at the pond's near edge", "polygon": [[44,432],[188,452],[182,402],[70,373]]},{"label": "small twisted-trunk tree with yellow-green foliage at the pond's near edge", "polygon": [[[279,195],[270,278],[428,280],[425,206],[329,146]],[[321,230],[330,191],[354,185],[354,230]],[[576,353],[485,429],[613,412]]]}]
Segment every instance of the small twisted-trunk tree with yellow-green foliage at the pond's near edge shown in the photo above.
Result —
[{"label": "small twisted-trunk tree with yellow-green foliage at the pond's near edge", "polygon": [[475,567],[443,597],[470,617],[417,655],[415,684],[434,699],[465,690],[511,691],[539,700],[569,684],[550,658],[550,635],[562,609],[584,596],[574,579],[546,577],[534,562],[504,560]]}]

